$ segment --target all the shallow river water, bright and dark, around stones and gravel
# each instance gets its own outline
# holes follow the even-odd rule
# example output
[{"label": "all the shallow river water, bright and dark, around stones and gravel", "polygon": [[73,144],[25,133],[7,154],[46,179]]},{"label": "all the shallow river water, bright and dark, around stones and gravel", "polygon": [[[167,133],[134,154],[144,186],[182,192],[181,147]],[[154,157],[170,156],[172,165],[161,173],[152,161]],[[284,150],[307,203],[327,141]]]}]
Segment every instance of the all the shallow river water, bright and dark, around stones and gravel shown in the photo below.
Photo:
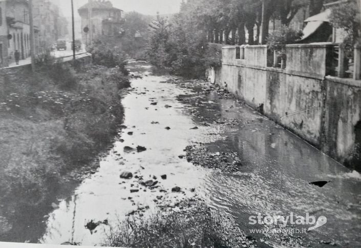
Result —
[{"label": "all the shallow river water, bright and dark, around stones and gravel", "polygon": [[[133,71],[146,73],[145,64],[130,64]],[[44,216],[32,220],[32,211],[19,213],[16,232],[8,240],[55,243],[76,242],[101,244],[109,225],[138,207],[155,211],[157,196],[169,201],[200,196],[217,211],[226,211],[236,218],[246,234],[250,215],[326,216],[327,223],[307,234],[282,239],[277,235],[253,235],[264,245],[290,246],[303,242],[311,246],[327,246],[335,242],[341,247],[361,246],[361,177],[323,153],[232,99],[219,99],[217,94],[200,95],[197,103],[185,105],[179,95],[192,97],[199,92],[163,81],[169,77],[147,75],[132,80],[132,90],[125,95],[124,129],[112,151],[99,162],[98,170],[80,185],[66,185],[57,196],[55,210],[37,210]],[[153,105],[152,105],[153,103]],[[157,103],[155,105],[155,103]],[[189,109],[201,115],[221,115],[222,119],[242,119],[237,127],[201,126]],[[199,127],[192,130],[193,127]],[[166,129],[169,127],[170,129]],[[133,132],[133,133],[130,133]],[[211,152],[235,151],[242,160],[237,173],[194,166],[180,155],[192,142],[203,142]],[[124,151],[124,147],[145,147],[144,152]],[[144,180],[157,180],[159,188],[145,189],[139,180],[121,179],[123,171]],[[161,175],[167,175],[165,180]],[[154,179],[157,178],[157,179]],[[330,180],[323,188],[309,182]],[[172,193],[178,186],[184,193]],[[139,192],[131,193],[131,189]],[[192,192],[191,189],[196,189]],[[85,225],[102,222],[90,232]],[[104,222],[107,220],[107,222]],[[27,228],[29,226],[29,228]],[[29,230],[30,229],[30,230]],[[21,231],[21,232],[20,232]]]}]

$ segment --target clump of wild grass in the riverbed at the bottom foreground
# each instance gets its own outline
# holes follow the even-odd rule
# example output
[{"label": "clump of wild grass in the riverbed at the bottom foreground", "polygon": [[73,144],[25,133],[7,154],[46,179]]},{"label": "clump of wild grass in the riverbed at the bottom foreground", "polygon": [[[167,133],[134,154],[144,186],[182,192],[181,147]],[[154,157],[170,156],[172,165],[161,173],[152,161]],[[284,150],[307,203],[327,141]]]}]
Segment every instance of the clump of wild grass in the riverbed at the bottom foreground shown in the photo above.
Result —
[{"label": "clump of wild grass in the riverbed at the bottom foreground", "polygon": [[186,201],[182,210],[132,215],[111,230],[114,247],[243,247],[248,242],[225,214],[212,212],[204,202]]}]

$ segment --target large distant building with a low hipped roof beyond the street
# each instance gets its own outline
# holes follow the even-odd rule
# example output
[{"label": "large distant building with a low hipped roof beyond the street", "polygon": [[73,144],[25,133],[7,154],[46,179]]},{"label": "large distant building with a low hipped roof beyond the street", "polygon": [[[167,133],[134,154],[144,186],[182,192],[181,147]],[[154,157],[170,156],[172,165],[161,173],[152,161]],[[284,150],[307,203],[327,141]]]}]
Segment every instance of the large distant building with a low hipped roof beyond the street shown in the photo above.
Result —
[{"label": "large distant building with a low hipped roof beyond the street", "polygon": [[113,7],[110,1],[91,0],[81,6],[78,13],[81,17],[82,39],[85,41],[100,35],[118,36],[122,32],[123,11]]}]

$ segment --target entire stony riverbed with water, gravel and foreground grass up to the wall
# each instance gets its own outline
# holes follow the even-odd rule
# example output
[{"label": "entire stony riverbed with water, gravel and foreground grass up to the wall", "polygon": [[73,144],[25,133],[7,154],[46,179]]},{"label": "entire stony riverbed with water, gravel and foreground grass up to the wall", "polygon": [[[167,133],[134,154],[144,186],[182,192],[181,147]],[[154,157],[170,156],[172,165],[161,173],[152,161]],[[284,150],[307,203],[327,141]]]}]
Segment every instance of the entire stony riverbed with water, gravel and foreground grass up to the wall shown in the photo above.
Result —
[{"label": "entire stony riverbed with water, gravel and foreground grass up to the wall", "polygon": [[[98,167],[80,184],[67,185],[49,209],[40,211],[32,226],[34,240],[139,247],[144,242],[172,247],[208,247],[212,242],[215,247],[359,246],[358,173],[221,87],[154,76],[144,63],[130,63],[129,68],[132,88],[122,100],[124,123],[111,150],[99,156]],[[315,181],[329,182],[321,188],[310,184]],[[290,213],[324,216],[327,223],[295,234],[249,220]],[[293,230],[309,227],[287,225]],[[122,230],[133,235],[124,237]]]}]

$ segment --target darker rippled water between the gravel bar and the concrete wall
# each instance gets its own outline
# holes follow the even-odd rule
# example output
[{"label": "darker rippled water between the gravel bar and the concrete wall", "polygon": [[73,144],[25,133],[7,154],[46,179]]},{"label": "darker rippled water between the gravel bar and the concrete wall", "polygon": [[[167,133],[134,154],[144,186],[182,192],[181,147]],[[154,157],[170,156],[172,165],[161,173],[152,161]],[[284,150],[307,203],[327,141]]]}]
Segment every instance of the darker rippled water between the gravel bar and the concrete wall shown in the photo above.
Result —
[{"label": "darker rippled water between the gravel bar and the concrete wall", "polygon": [[[232,175],[207,175],[205,189],[210,205],[226,208],[242,226],[250,214],[257,213],[324,215],[327,224],[308,233],[308,239],[335,240],[349,247],[361,245],[361,178],[357,172],[350,172],[233,100],[220,100],[220,106],[222,118],[243,121],[236,128],[225,130],[227,139],[218,141],[217,147],[237,151],[243,168]],[[324,188],[309,184],[319,180],[331,182]]]}]

